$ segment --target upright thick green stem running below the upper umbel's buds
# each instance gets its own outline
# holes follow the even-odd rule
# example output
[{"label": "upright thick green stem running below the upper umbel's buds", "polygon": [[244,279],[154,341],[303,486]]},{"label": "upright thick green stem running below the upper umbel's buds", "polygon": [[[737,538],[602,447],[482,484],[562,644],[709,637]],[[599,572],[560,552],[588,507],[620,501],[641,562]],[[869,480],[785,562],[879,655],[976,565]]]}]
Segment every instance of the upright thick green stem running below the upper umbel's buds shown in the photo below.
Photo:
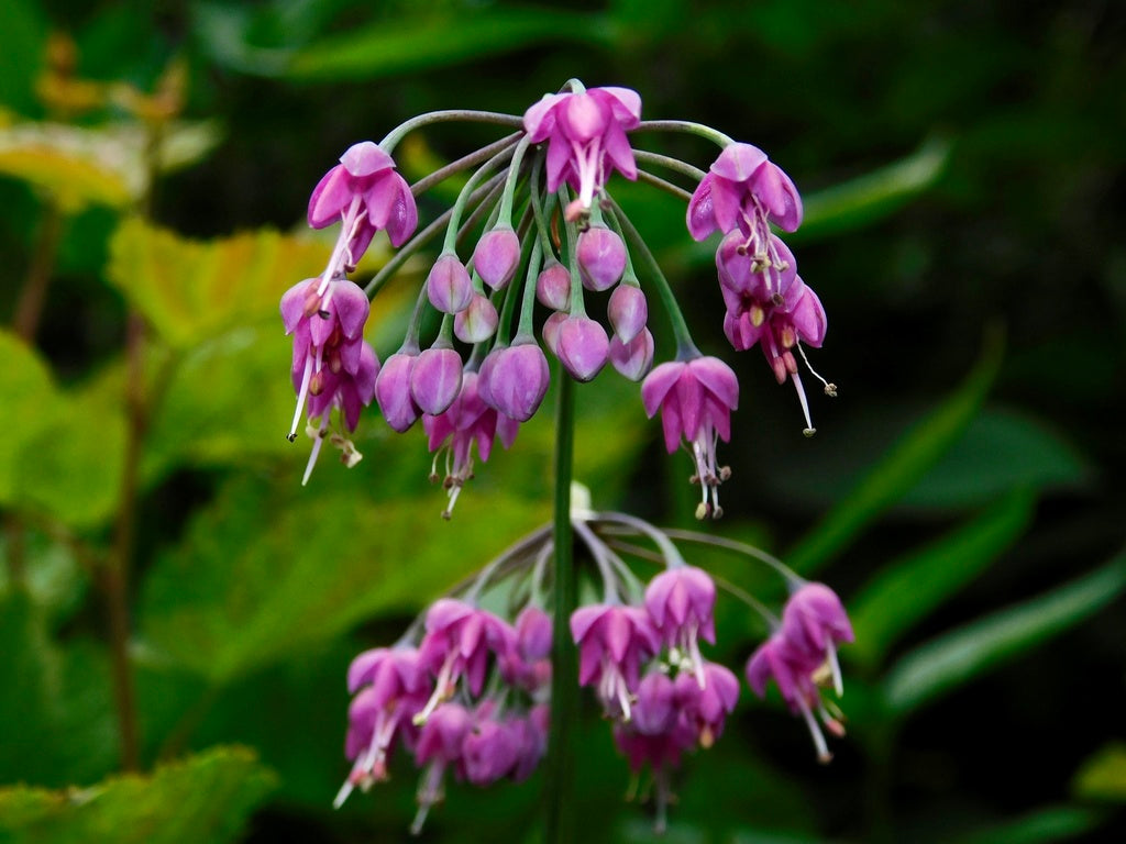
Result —
[{"label": "upright thick green stem running below the upper umbel's buds", "polygon": [[579,676],[570,620],[575,607],[575,566],[571,528],[571,473],[574,455],[574,383],[556,367],[555,408],[555,587],[552,645],[552,721],[545,780],[546,844],[574,841],[574,725]]}]

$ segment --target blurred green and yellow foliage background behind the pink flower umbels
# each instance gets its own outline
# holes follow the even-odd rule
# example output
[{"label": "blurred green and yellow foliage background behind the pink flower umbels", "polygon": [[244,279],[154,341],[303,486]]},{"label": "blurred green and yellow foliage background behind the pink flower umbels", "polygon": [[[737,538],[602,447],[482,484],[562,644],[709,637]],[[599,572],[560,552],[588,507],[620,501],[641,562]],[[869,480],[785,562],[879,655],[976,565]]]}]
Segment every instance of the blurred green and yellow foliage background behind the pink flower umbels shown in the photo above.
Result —
[{"label": "blurred green and yellow foliage background behind the pink flower umbels", "polygon": [[[744,688],[664,839],[1126,839],[1124,44],[1109,0],[5,0],[0,839],[408,837],[408,758],[331,809],[345,671],[548,518],[552,397],[452,523],[422,434],[374,410],[363,463],[302,488],[277,300],[323,268],[305,205],[350,144],[430,109],[522,114],[571,77],[790,174],[787,241],[829,314],[811,360],[839,385],[806,440],[793,392],[723,338],[714,244],[611,183],[740,375],[727,515],[704,529],[832,584],[858,637],[833,763]],[[436,127],[396,158],[413,180],[497,136]],[[376,300],[381,357],[425,271]],[[578,401],[595,506],[694,527],[688,460],[636,386],[607,372]],[[718,613],[708,655],[741,668],[763,630]],[[590,702],[578,752],[584,838],[647,839]],[[452,784],[423,837],[535,839],[542,787]]]}]

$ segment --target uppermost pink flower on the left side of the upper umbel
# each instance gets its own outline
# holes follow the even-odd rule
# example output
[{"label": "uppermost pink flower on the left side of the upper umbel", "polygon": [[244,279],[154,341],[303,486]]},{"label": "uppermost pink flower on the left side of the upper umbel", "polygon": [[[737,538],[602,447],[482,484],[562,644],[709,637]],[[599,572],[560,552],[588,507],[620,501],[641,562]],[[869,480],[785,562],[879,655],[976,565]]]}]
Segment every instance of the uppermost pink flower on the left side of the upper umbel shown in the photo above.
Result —
[{"label": "uppermost pink flower on the left side of the upper umbel", "polygon": [[348,147],[309,199],[309,225],[324,228],[337,221],[340,236],[316,290],[325,299],[322,309],[331,298],[329,282],[356,268],[376,232],[385,230],[391,244],[401,246],[418,227],[410,187],[392,158],[370,141]]}]

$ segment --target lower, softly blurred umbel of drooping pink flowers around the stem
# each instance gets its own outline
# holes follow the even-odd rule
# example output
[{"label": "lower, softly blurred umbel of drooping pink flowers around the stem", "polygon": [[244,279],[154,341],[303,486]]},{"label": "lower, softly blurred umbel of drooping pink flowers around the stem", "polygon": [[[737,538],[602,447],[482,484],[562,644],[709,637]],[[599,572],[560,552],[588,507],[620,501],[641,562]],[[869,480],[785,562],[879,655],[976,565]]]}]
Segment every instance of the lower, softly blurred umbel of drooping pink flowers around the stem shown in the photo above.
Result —
[{"label": "lower, softly blurred umbel of drooping pink flowers around the stem", "polygon": [[[716,637],[716,583],[686,562],[668,533],[640,519],[574,511],[571,522],[583,551],[583,591],[599,598],[570,618],[578,682],[597,699],[635,787],[652,796],[661,829],[672,773],[685,756],[715,744],[739,699],[736,675],[706,655]],[[817,758],[828,762],[821,725],[843,735],[829,695],[843,692],[837,647],[852,640],[844,609],[828,586],[803,581],[763,551],[725,547],[768,565],[789,587],[780,619],[730,590],[770,630],[745,675],[760,697],[769,681],[777,684],[807,725]],[[355,789],[386,780],[393,756],[410,756],[419,771],[418,833],[448,781],[485,787],[535,771],[548,743],[553,551],[549,527],[533,532],[435,601],[393,646],[352,661],[345,744],[352,769],[337,806]]]}]

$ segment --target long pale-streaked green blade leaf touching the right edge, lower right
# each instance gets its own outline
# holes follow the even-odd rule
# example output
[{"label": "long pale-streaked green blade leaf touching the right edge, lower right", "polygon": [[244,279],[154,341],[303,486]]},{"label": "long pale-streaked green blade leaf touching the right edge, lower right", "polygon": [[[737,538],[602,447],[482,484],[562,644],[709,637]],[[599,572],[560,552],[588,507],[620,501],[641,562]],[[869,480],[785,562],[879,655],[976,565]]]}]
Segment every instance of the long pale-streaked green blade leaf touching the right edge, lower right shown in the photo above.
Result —
[{"label": "long pale-streaked green blade leaf touching the right edge, lower right", "polygon": [[921,645],[884,682],[891,712],[903,716],[1002,661],[1079,623],[1126,587],[1126,554],[1080,580],[994,612]]}]

